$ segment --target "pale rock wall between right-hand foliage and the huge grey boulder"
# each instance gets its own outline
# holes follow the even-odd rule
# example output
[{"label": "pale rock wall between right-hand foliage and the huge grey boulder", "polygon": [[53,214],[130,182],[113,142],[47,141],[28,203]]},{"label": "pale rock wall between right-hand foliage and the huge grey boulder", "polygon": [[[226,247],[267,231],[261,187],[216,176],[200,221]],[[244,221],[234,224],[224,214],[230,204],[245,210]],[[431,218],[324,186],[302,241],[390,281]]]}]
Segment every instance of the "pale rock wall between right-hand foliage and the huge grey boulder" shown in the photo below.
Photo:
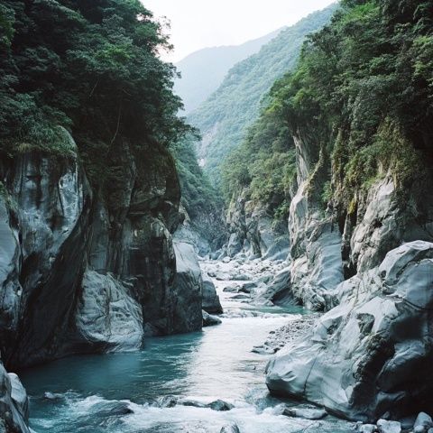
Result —
[{"label": "pale rock wall between right-hand foliage and the huge grey boulder", "polygon": [[[352,194],[353,206],[323,203],[321,191],[329,180],[317,136],[299,130],[294,137],[297,191],[289,216],[291,288],[309,309],[335,305],[336,286],[382,263],[386,253],[402,243],[433,242],[431,179],[414,181],[398,190],[391,173],[381,173],[368,191]],[[404,196],[404,198],[402,198]]]}]

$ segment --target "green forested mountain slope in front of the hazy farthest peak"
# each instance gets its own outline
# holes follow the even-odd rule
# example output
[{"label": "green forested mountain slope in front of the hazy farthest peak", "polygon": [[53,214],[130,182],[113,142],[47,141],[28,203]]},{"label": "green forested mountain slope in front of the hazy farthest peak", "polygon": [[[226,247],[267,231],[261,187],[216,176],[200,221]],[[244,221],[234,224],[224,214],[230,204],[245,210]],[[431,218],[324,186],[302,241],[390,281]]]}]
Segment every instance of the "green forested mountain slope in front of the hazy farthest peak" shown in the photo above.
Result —
[{"label": "green forested mountain slope in front of the hazy farthest peak", "polygon": [[189,115],[189,123],[201,131],[198,158],[211,179],[219,179],[219,164],[242,142],[274,81],[296,65],[306,36],[328,23],[336,7],[330,5],[309,14],[280,32],[258,53],[237,63],[217,91]]}]

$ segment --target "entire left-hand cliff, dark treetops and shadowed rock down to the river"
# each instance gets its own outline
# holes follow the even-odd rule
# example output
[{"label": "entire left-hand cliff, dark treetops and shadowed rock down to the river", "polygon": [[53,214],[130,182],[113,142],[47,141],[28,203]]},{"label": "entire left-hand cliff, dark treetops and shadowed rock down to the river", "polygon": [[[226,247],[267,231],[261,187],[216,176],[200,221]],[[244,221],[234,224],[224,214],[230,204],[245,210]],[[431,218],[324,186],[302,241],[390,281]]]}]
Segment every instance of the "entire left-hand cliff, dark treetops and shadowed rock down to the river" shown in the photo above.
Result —
[{"label": "entire left-hand cliff, dark treetops and shadowed rock down to the river", "polygon": [[[197,257],[172,241],[168,149],[191,128],[156,54],[169,46],[160,23],[138,0],[6,0],[0,20],[5,368],[201,328]],[[6,431],[28,431],[25,392],[0,379]]]}]

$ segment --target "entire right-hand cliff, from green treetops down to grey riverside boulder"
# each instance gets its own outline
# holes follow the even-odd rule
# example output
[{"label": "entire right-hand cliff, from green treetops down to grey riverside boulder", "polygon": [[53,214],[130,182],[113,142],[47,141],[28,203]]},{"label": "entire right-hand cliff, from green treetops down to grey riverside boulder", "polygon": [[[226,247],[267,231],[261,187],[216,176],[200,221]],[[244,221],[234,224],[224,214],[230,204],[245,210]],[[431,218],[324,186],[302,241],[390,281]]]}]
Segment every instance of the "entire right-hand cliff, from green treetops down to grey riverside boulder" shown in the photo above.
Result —
[{"label": "entire right-hand cliff, from green treetops down to grey riverside boulder", "polygon": [[223,186],[232,240],[251,226],[249,198],[254,209],[278,198],[285,290],[326,312],[269,364],[270,391],[348,419],[400,419],[432,410],[418,376],[432,359],[431,8],[341,6],[273,86]]}]

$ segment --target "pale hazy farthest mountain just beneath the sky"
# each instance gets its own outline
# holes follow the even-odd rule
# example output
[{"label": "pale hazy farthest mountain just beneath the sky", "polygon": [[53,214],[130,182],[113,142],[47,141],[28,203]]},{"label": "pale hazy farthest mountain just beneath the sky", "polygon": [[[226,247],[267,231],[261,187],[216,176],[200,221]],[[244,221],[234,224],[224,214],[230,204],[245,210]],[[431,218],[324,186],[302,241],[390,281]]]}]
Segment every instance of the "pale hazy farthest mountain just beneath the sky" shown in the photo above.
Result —
[{"label": "pale hazy farthest mountain just beneath the sky", "polygon": [[174,89],[183,100],[186,114],[217,90],[230,68],[259,51],[279,32],[281,29],[242,45],[205,48],[180,60],[176,67],[181,78],[175,81]]}]

